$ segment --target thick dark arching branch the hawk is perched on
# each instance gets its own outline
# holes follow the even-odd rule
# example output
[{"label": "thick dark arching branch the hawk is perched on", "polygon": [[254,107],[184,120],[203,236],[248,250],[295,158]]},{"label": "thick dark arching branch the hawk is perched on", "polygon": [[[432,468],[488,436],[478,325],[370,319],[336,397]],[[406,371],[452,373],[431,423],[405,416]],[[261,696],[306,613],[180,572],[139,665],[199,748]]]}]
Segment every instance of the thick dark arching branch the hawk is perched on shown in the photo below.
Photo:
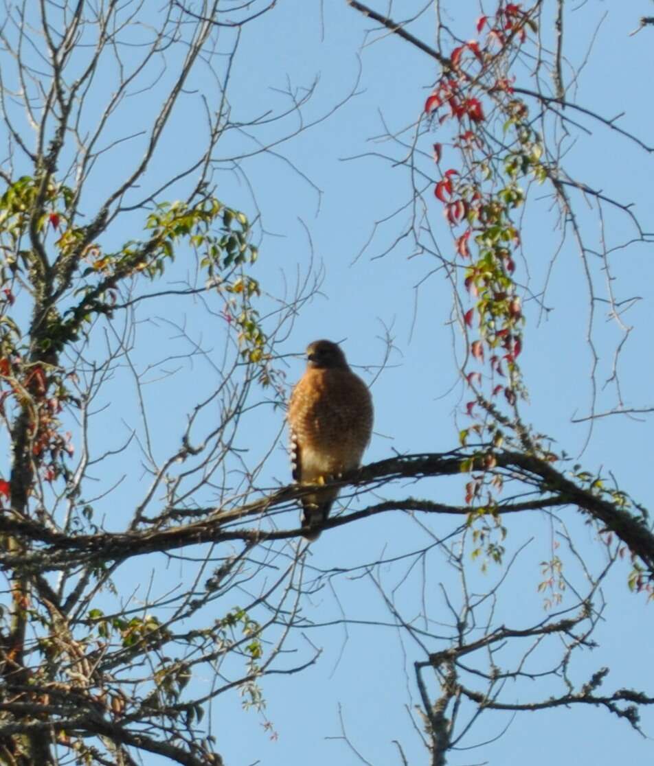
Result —
[{"label": "thick dark arching branch the hawk is perched on", "polygon": [[[613,532],[622,540],[629,550],[638,556],[650,575],[654,576],[654,534],[642,517],[634,516],[628,510],[616,503],[603,498],[592,489],[585,489],[541,457],[535,457],[518,452],[498,452],[494,454],[495,466],[492,473],[511,473],[517,480],[528,481],[536,485],[544,497],[534,506],[522,504],[522,509],[537,507],[553,507],[563,504],[577,506],[583,512],[600,522],[607,531]],[[378,488],[397,480],[419,479],[427,476],[452,476],[472,470],[478,473],[484,471],[484,458],[464,450],[451,453],[429,453],[392,457],[371,463],[360,470],[344,475],[336,483],[341,487],[353,486],[363,489]],[[488,469],[486,469],[488,471]],[[123,533],[100,533],[97,535],[70,536],[44,529],[35,522],[16,522],[0,518],[0,532],[20,532],[28,538],[42,542],[48,546],[44,551],[33,554],[33,563],[43,568],[56,568],[61,562],[71,561],[107,561],[123,560],[134,555],[143,555],[153,551],[170,551],[184,545],[206,542],[225,542],[229,540],[263,540],[293,538],[300,534],[299,529],[266,532],[261,529],[232,528],[234,522],[255,516],[261,516],[271,511],[291,509],[297,500],[311,489],[287,486],[271,495],[262,497],[242,506],[220,507],[196,511],[205,513],[205,518],[196,522],[170,526],[167,529],[137,530]],[[351,523],[373,512],[383,512],[389,509],[402,508],[406,502],[416,509],[421,509],[416,501],[386,502],[372,506],[363,511],[329,519],[324,529]],[[419,501],[422,502],[422,501]],[[408,507],[408,506],[407,506]],[[433,504],[431,507],[422,506],[431,512],[467,513],[475,512],[475,507],[442,506]],[[518,510],[521,506],[508,505],[507,510]],[[493,509],[495,510],[495,509]],[[502,507],[498,506],[498,512]],[[176,509],[169,509],[168,516],[176,515]],[[160,520],[159,520],[160,522]],[[2,557],[5,563],[11,561],[11,556]],[[29,559],[21,559],[23,565],[29,565]]]}]

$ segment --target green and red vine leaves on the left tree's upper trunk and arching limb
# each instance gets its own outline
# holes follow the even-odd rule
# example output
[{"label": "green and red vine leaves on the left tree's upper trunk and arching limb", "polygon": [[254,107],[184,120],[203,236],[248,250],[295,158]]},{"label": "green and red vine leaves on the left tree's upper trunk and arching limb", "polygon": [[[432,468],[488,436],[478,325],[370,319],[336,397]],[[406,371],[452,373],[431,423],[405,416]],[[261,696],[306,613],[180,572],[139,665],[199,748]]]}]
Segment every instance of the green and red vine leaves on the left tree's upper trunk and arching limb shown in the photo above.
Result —
[{"label": "green and red vine leaves on the left tree's upper trunk and arching limb", "polygon": [[[0,198],[0,416],[8,422],[17,411],[28,415],[26,451],[47,482],[67,477],[64,458],[73,453],[58,416],[76,400],[58,353],[99,314],[111,315],[121,283],[141,274],[160,277],[182,247],[196,251],[206,289],[222,296],[242,355],[261,365],[265,376],[266,336],[253,305],[260,290],[245,273],[258,250],[249,242],[245,214],[212,196],[194,205],[162,203],[146,219],[147,238],[106,252],[87,227],[76,224],[75,206],[71,188],[30,176],[8,185]],[[74,303],[60,313],[56,301],[64,293]],[[38,327],[25,332],[17,317],[38,306]]]}]

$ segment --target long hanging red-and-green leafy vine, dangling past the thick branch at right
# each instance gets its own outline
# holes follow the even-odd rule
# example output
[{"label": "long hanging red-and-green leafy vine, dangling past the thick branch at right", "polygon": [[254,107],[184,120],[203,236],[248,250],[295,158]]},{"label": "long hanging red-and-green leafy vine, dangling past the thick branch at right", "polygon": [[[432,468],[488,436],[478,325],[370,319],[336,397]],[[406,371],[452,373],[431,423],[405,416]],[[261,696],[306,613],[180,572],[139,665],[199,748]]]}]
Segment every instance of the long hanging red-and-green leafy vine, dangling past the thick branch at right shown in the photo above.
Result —
[{"label": "long hanging red-and-green leafy vine, dangling past the thick branch at right", "polygon": [[[526,104],[514,93],[511,77],[511,64],[535,31],[529,13],[514,3],[500,4],[494,16],[478,18],[479,39],[452,49],[424,106],[432,126],[441,131],[442,126],[453,126],[448,145],[433,145],[441,172],[434,194],[452,230],[455,263],[461,264],[457,270],[463,270],[465,294],[473,303],[462,309],[468,349],[462,375],[475,395],[465,404],[475,422],[460,431],[459,439],[465,446],[475,435],[488,445],[463,466],[471,474],[465,502],[473,509],[474,555],[484,554],[484,566],[487,561],[501,562],[506,534],[497,515],[495,498],[503,480],[493,472],[494,453],[515,433],[518,400],[526,397],[518,364],[524,315],[514,279],[514,254],[521,242],[514,216],[524,202],[521,182],[547,178],[541,139],[529,123]],[[452,151],[458,167],[443,169],[443,157]],[[471,363],[485,365],[487,372],[471,369]],[[501,414],[496,403],[500,396],[510,417]],[[483,416],[476,412],[480,405]]]}]

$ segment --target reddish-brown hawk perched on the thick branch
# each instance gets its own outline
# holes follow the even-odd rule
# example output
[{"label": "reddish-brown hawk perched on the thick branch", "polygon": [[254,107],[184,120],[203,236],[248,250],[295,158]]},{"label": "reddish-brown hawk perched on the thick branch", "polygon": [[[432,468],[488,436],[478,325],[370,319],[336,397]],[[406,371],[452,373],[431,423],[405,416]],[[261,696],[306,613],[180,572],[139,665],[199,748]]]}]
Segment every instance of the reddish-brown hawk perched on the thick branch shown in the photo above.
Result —
[{"label": "reddish-brown hawk perched on the thick branch", "polygon": [[[357,468],[373,430],[373,400],[354,375],[336,343],[317,340],[307,347],[307,371],[288,403],[293,478],[300,484],[324,484],[330,476]],[[329,516],[338,489],[321,489],[302,502],[302,534]]]}]

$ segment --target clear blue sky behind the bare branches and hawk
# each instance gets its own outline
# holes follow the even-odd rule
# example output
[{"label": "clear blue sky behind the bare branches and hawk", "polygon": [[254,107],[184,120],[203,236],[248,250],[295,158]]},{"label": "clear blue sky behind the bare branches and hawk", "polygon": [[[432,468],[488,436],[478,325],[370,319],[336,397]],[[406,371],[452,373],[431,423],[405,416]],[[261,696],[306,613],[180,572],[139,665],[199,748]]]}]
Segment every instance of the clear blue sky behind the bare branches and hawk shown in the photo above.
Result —
[{"label": "clear blue sky behind the bare branches and hawk", "polygon": [[[378,2],[374,7],[380,12],[388,11],[387,3]],[[412,15],[409,7],[418,11],[421,6],[414,2],[401,6],[396,3],[389,12],[404,18]],[[646,29],[628,36],[636,28],[639,15],[648,11],[644,0],[629,11],[604,2],[583,4],[568,11],[565,34],[573,68],[583,64],[585,51],[593,41],[592,52],[573,92],[574,100],[607,118],[624,111],[619,125],[654,144],[648,81],[652,70],[651,33]],[[463,39],[472,37],[479,13],[476,3],[442,3],[442,18]],[[401,150],[380,136],[410,127],[420,118],[422,104],[438,72],[429,57],[403,41],[388,36],[374,41],[382,36],[366,35],[373,28],[370,20],[348,8],[345,2],[306,0],[279,2],[270,13],[248,25],[233,65],[229,99],[234,122],[247,123],[269,110],[279,112],[289,103],[284,90],[298,89],[297,93],[302,93],[302,89],[315,83],[314,94],[303,107],[302,116],[305,124],[314,121],[317,124],[276,146],[277,156],[268,152],[239,159],[236,168],[230,158],[251,152],[255,142],[242,132],[228,133],[219,143],[219,155],[225,161],[219,163],[216,172],[218,195],[226,204],[246,211],[251,217],[257,208],[261,213],[258,226],[261,255],[252,273],[266,292],[277,295],[284,286],[292,286],[307,273],[321,275],[320,294],[302,308],[280,349],[289,355],[284,360],[289,386],[301,375],[304,362],[299,354],[311,340],[327,337],[342,341],[350,362],[370,381],[376,375],[376,365],[383,360],[385,328],[393,336],[389,365],[372,388],[375,434],[366,461],[389,457],[395,450],[399,453],[450,450],[458,446],[458,429],[467,424],[463,414],[465,391],[458,382],[453,352],[449,286],[442,273],[432,273],[437,265],[435,259],[429,254],[416,254],[409,239],[389,250],[409,214],[401,211],[393,218],[389,216],[405,205],[410,185],[406,168],[393,166],[380,156],[401,158]],[[428,8],[409,28],[431,44],[433,10]],[[138,31],[135,34],[138,37]],[[220,34],[226,38],[228,49],[232,33]],[[162,67],[162,83],[173,76],[174,61],[173,56],[168,68]],[[570,69],[565,71],[570,73]],[[111,75],[107,67],[103,75],[107,78],[106,90],[110,90]],[[524,72],[522,77],[528,83],[530,74]],[[98,103],[105,90],[103,83],[100,78],[100,87],[94,91]],[[202,69],[192,77],[183,108],[166,129],[163,151],[148,178],[153,186],[159,178],[186,165],[201,144],[201,91],[209,100],[218,97]],[[131,129],[132,121],[136,130],[156,103],[157,92],[155,89],[133,97],[122,116],[117,116],[110,134],[129,132],[127,126]],[[580,133],[577,142],[566,144],[569,171],[592,188],[602,188],[625,203],[633,201],[643,227],[654,231],[649,154],[637,150],[606,126],[579,115],[575,119],[588,126],[592,135]],[[261,141],[270,141],[292,133],[297,125],[297,115],[291,113],[280,123],[248,132],[255,133]],[[410,129],[406,135],[411,135]],[[431,142],[437,139],[435,134],[420,136],[419,149],[429,152]],[[107,153],[107,161],[98,166],[97,178],[110,182],[113,174],[120,177],[124,165],[141,151],[136,139],[120,148],[120,153]],[[99,188],[98,195],[101,191]],[[183,195],[183,185],[176,191]],[[576,209],[585,236],[597,247],[600,229],[596,210],[584,201],[583,195],[571,193],[576,195]],[[169,198],[174,196],[171,191]],[[550,200],[541,196],[538,189],[531,190],[524,219],[524,260],[518,259],[516,273],[518,280],[527,283],[528,264],[528,285],[534,292],[541,289],[560,242],[557,216]],[[426,198],[429,201],[429,195]],[[89,209],[93,204],[91,193]],[[448,252],[452,247],[449,232],[439,204],[433,198],[431,204],[429,220],[439,233],[439,247]],[[133,221],[136,223],[136,216]],[[606,209],[604,222],[609,247],[633,236],[623,214]],[[115,247],[137,233],[127,231],[126,226],[124,231],[114,231],[113,236],[115,240],[105,247]],[[611,284],[619,290],[619,296],[641,299],[624,318],[634,329],[621,357],[624,401],[626,406],[636,408],[649,406],[652,401],[651,256],[651,244],[632,244],[618,250],[610,260],[617,277]],[[600,290],[604,289],[606,277],[603,262],[591,258],[589,263],[596,294],[602,296]],[[192,275],[194,268],[192,260],[182,259],[166,279],[173,283]],[[588,414],[591,392],[592,358],[586,338],[589,299],[584,280],[577,248],[569,237],[551,271],[544,299],[550,307],[547,317],[541,316],[539,321],[535,302],[524,301],[527,326],[523,368],[530,391],[524,417],[535,430],[554,440],[555,451],[565,450],[573,457],[580,455],[580,462],[588,470],[610,470],[619,486],[647,504],[651,495],[649,466],[654,457],[649,421],[606,417],[596,421],[590,440],[588,424],[570,422],[572,417]],[[261,305],[272,304],[264,300]],[[216,329],[221,320],[200,301],[193,305],[177,299],[164,300],[154,307],[143,304],[136,309],[135,318],[133,362],[144,375],[153,451],[162,458],[179,444],[186,414],[193,404],[209,394],[219,380],[212,364],[222,356],[223,329],[222,326]],[[188,337],[184,337],[181,328]],[[610,376],[613,352],[622,336],[615,322],[607,321],[606,309],[599,300],[593,333],[600,355],[596,409],[605,411],[616,404],[614,387],[603,384]],[[191,341],[197,342],[203,353],[184,358],[192,347]],[[104,352],[101,344],[94,348],[96,351],[98,355]],[[169,375],[173,371],[175,375]],[[98,409],[107,409],[97,415],[93,433],[103,450],[115,449],[132,430],[144,437],[134,392],[130,370],[121,363],[113,381],[98,398]],[[284,418],[281,408],[266,401],[270,394],[261,392],[257,396],[265,404],[244,418],[237,439],[239,447],[248,450],[247,460],[252,464],[268,452]],[[209,425],[208,422],[206,427]],[[106,463],[102,476],[97,477],[98,493],[121,482],[117,493],[98,505],[110,529],[120,529],[123,514],[128,517],[135,493],[143,492],[146,474],[139,461],[134,444],[133,449]],[[258,474],[258,483],[262,487],[275,486],[289,480],[282,438]],[[458,480],[430,480],[415,486],[393,487],[383,494],[462,502]],[[357,502],[376,499],[365,496]],[[601,566],[602,552],[593,529],[584,525],[573,509],[565,509],[560,517],[582,555],[593,567]],[[397,740],[409,763],[428,762],[409,718],[418,702],[412,663],[424,657],[396,627],[364,623],[393,622],[374,583],[376,579],[389,591],[397,588],[396,606],[406,620],[417,619],[424,603],[431,620],[429,630],[440,635],[451,633],[452,628],[444,626],[451,624],[452,617],[446,610],[443,594],[447,593],[452,603],[458,604],[460,581],[447,557],[437,548],[426,558],[424,571],[420,568],[407,571],[408,563],[399,562],[371,565],[368,574],[362,570],[348,572],[348,568],[405,555],[429,545],[433,542],[430,534],[442,538],[455,526],[452,520],[440,516],[422,522],[427,530],[399,513],[383,514],[334,529],[311,546],[307,577],[315,576],[312,574],[315,572],[322,579],[320,588],[304,601],[303,614],[309,623],[336,624],[324,627],[307,624],[304,635],[298,632],[288,644],[292,652],[280,663],[283,667],[287,659],[288,666],[301,662],[310,656],[313,644],[322,650],[314,666],[296,676],[270,676],[261,683],[268,701],[266,715],[278,732],[275,741],[261,727],[255,712],[241,709],[235,694],[215,702],[213,734],[225,764],[281,764],[304,762],[307,758],[315,766],[334,761],[347,766],[357,764],[360,760],[339,738],[339,715],[352,744],[366,761],[376,766],[399,763],[399,753],[393,744]],[[295,519],[283,518],[278,523],[290,526]],[[553,529],[561,526],[536,514],[514,516],[504,523],[508,527],[508,557],[519,549],[521,553],[499,591],[494,624],[520,628],[545,617],[543,596],[537,592],[542,579],[541,561],[550,557]],[[283,566],[288,552],[282,546],[278,552],[266,555],[271,565]],[[500,568],[491,567],[484,573],[469,556],[465,561],[471,592],[484,592],[489,584],[501,578]],[[570,581],[583,587],[584,574],[573,555],[568,553],[566,562]],[[179,562],[179,568],[148,564],[143,565],[143,571],[130,568],[119,571],[118,587],[124,594],[133,591],[136,603],[144,597],[144,588],[152,576],[151,566],[155,566],[153,578],[160,592],[179,581],[187,581],[195,571],[190,562],[184,561]],[[626,563],[618,563],[606,581],[607,605],[595,634],[598,647],[580,653],[577,664],[570,669],[577,683],[584,683],[596,669],[606,665],[611,668],[606,689],[652,689],[652,607],[647,606],[644,597],[628,593],[628,571]],[[228,594],[222,606],[227,611],[235,606],[237,596],[247,601],[248,593],[263,587],[261,581],[247,584],[241,594]],[[563,606],[573,603],[568,589]],[[484,607],[481,614],[488,617]],[[352,624],[344,625],[343,618]],[[432,651],[445,645],[437,639],[429,640]],[[505,651],[511,653],[513,648]],[[556,656],[547,647],[542,653],[534,653],[531,671],[541,672]],[[195,683],[202,688],[212,683],[212,678],[207,673]],[[435,689],[432,687],[431,691]],[[504,699],[544,699],[557,691],[560,687],[556,689],[549,682],[539,685],[537,681],[523,681],[507,690]],[[640,738],[626,722],[602,710],[522,713],[501,738],[492,741],[509,719],[509,715],[485,713],[462,744],[489,744],[455,752],[449,763],[465,766],[528,762],[544,766],[561,762],[608,766],[652,760],[652,742]],[[643,726],[648,733],[654,731],[654,715],[646,715]]]}]

